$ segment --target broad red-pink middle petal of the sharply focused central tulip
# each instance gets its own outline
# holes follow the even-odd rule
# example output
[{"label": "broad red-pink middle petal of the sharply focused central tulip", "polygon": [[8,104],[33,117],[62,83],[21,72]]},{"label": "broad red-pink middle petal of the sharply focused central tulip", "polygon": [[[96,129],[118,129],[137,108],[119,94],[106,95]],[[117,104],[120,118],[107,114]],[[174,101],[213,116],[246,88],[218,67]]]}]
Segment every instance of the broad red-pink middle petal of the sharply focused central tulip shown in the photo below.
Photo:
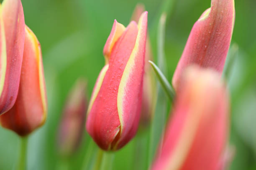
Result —
[{"label": "broad red-pink middle petal of the sharply focused central tulip", "polygon": [[[111,150],[120,135],[117,108],[118,87],[138,34],[137,24],[131,22],[113,46],[108,70],[94,102],[90,104],[86,129],[104,150]],[[98,86],[98,85],[96,85]],[[96,88],[96,87],[95,87]]]}]

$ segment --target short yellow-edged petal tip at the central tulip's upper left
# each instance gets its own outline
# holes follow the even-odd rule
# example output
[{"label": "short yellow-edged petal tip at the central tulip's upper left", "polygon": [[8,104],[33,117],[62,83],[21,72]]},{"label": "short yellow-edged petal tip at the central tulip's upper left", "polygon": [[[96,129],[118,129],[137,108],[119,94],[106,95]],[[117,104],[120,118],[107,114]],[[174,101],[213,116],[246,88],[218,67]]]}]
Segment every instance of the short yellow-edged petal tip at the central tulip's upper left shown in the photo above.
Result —
[{"label": "short yellow-edged petal tip at the central tulip's upper left", "polygon": [[110,35],[108,36],[108,40],[103,49],[103,55],[105,57],[106,63],[108,63],[110,60],[111,51],[115,45],[115,42],[123,34],[124,31],[125,26],[115,20]]}]

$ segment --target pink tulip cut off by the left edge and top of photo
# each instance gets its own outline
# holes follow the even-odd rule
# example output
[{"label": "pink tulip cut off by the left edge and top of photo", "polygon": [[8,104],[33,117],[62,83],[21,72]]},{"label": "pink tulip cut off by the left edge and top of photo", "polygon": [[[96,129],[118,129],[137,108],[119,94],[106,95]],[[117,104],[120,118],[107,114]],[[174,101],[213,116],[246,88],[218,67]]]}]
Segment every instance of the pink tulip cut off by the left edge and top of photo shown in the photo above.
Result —
[{"label": "pink tulip cut off by the left edge and top of photo", "polygon": [[18,95],[25,40],[20,0],[4,0],[0,7],[0,115],[13,107]]}]

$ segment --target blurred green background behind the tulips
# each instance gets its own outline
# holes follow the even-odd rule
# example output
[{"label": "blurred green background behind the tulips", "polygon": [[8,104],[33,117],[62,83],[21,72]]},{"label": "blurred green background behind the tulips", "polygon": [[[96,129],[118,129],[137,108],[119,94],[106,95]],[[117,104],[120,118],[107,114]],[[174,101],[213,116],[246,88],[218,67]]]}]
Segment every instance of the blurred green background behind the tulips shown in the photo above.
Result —
[{"label": "blurred green background behind the tulips", "polygon": [[[156,32],[159,16],[167,11],[165,54],[168,79],[172,80],[179,57],[193,24],[210,0],[22,0],[25,22],[41,42],[49,114],[46,124],[28,140],[28,170],[54,170],[61,162],[56,152],[56,133],[62,108],[77,77],[88,80],[90,97],[97,75],[104,65],[102,50],[114,19],[128,25],[138,2],[148,11],[148,31],[156,57]],[[227,82],[231,94],[230,143],[236,146],[231,170],[256,170],[256,1],[235,0],[236,21],[232,43],[238,57]],[[85,132],[84,132],[85,133]],[[139,132],[113,157],[113,169],[147,169],[145,158],[148,130]],[[18,136],[0,128],[0,170],[11,170],[19,153]],[[70,158],[72,170],[80,170],[89,154],[91,139],[86,134],[82,145]],[[138,145],[138,141],[141,146]],[[135,157],[140,146],[141,153]],[[92,153],[97,152],[93,147]]]}]

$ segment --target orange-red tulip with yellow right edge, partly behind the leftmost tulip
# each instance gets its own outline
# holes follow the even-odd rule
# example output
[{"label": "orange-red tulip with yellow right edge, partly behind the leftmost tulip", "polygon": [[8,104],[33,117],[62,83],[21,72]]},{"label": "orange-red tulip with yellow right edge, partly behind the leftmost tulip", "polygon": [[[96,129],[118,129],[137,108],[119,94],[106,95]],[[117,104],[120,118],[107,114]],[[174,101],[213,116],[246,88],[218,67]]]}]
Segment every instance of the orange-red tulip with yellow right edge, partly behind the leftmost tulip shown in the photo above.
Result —
[{"label": "orange-red tulip with yellow right edge, partly behind the leftmost tulip", "polygon": [[0,116],[1,125],[26,136],[44,124],[47,114],[46,87],[41,46],[26,26],[20,87],[13,107]]}]

